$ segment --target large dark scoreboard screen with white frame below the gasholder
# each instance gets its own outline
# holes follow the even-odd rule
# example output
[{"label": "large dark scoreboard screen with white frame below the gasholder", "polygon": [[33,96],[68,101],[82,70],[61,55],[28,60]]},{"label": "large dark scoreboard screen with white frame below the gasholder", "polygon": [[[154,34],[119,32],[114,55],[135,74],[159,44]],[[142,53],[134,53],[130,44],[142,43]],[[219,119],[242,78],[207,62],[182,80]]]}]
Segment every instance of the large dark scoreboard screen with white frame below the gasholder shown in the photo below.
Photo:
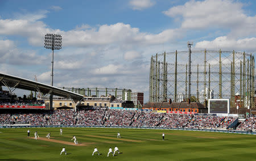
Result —
[{"label": "large dark scoreboard screen with white frame below the gasholder", "polygon": [[208,99],[208,113],[229,113],[229,99]]}]

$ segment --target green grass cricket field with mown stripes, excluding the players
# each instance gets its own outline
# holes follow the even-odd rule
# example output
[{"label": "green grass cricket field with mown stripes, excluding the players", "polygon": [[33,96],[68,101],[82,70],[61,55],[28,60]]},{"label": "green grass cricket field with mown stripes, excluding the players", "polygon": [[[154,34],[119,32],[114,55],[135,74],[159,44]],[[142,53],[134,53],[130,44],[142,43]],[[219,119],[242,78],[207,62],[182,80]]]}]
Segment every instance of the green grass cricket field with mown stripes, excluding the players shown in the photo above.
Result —
[{"label": "green grass cricket field with mown stripes, excluding the players", "polygon": [[[0,160],[256,160],[256,135],[150,129],[31,128],[31,137],[71,142],[72,135],[85,146],[27,138],[27,129],[0,129]],[[121,133],[121,139],[117,138]],[[162,141],[162,133],[166,140]],[[107,157],[109,147],[122,154]],[[68,155],[60,155],[62,147]],[[101,155],[92,156],[94,147]]]}]

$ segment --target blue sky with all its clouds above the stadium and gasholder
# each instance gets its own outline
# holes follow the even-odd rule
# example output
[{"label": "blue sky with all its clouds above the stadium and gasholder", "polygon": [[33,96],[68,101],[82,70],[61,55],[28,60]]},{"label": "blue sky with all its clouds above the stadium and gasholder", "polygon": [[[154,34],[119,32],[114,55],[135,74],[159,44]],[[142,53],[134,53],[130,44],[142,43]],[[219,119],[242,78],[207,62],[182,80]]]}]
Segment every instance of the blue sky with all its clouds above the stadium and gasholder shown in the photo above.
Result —
[{"label": "blue sky with all its clouds above the stadium and gasholder", "polygon": [[46,33],[63,36],[55,86],[131,88],[148,95],[152,54],[256,50],[255,1],[0,1],[0,71],[49,84]]}]

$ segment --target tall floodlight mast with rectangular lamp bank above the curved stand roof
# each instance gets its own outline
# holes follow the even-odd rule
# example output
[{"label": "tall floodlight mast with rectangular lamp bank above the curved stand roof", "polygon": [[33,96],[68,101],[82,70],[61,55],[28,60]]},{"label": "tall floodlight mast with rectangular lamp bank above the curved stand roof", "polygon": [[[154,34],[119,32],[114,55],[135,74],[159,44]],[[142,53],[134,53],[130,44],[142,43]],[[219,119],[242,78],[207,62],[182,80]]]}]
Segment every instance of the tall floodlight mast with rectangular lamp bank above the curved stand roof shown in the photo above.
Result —
[{"label": "tall floodlight mast with rectangular lamp bank above the curved stand roof", "polygon": [[[47,33],[44,36],[44,48],[52,50],[52,73],[51,73],[51,86],[53,86],[53,51],[61,49],[62,37],[58,34]],[[49,108],[52,109],[52,95],[50,95]]]}]

